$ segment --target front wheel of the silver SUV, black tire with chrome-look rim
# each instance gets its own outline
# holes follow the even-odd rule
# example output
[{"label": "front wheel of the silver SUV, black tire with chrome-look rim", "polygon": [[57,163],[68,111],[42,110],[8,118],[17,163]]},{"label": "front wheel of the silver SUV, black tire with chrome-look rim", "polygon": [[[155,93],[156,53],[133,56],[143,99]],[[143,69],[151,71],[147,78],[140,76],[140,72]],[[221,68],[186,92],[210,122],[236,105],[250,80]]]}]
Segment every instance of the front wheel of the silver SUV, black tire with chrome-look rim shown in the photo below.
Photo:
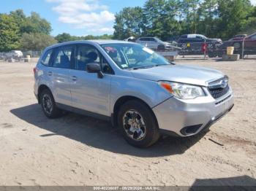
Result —
[{"label": "front wheel of the silver SUV, black tire with chrome-look rim", "polygon": [[118,128],[124,139],[134,147],[146,148],[159,139],[157,120],[151,109],[141,101],[127,101],[121,106]]}]

